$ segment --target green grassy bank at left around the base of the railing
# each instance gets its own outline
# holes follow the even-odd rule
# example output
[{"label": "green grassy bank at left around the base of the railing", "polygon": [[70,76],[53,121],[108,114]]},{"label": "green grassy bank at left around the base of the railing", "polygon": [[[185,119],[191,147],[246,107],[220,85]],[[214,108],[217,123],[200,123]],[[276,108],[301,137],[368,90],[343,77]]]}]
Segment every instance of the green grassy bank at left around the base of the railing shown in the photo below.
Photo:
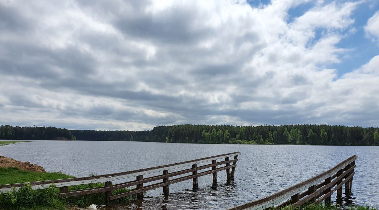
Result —
[{"label": "green grassy bank at left around the base of the railing", "polygon": [[[13,184],[19,182],[34,182],[52,179],[72,178],[60,172],[44,173],[24,171],[17,168],[0,168],[0,185]],[[103,187],[103,183],[85,184],[70,186],[69,190],[81,190],[92,187]],[[119,189],[112,191],[112,194],[128,192],[129,189]],[[91,204],[104,204],[104,193],[96,193],[85,196],[75,196],[72,198],[58,198],[59,188],[51,185],[43,190],[32,190],[30,184],[26,184],[19,190],[14,190],[6,194],[0,194],[0,209],[66,209],[66,207],[88,207]],[[130,201],[134,196],[118,199],[114,202]]]}]

